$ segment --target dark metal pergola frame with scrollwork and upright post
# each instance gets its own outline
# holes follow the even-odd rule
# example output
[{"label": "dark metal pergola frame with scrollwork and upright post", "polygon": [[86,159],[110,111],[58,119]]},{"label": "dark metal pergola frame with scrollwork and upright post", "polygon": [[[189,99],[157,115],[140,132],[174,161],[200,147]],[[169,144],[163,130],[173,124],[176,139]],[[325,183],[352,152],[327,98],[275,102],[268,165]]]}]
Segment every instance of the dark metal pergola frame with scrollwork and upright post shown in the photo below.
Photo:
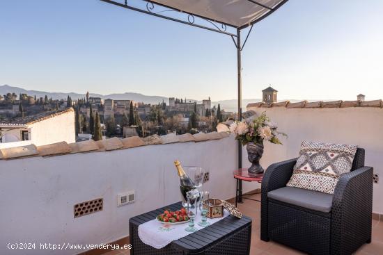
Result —
[{"label": "dark metal pergola frame with scrollwork and upright post", "polygon": [[[189,26],[197,27],[197,28],[203,28],[205,30],[221,33],[224,35],[229,35],[235,44],[235,48],[237,49],[237,100],[238,100],[237,118],[238,118],[238,120],[242,120],[242,60],[241,60],[241,51],[244,49],[244,45],[246,44],[247,39],[249,38],[249,35],[253,29],[253,25],[260,22],[261,20],[265,19],[267,16],[271,15],[272,13],[274,13],[274,11],[278,10],[288,0],[281,1],[280,3],[278,3],[273,8],[271,8],[269,6],[265,6],[265,4],[260,3],[259,0],[257,0],[257,1],[256,0],[247,0],[250,3],[253,3],[257,6],[261,6],[263,8],[266,8],[269,11],[267,11],[267,13],[265,13],[264,15],[257,17],[255,19],[253,19],[251,22],[244,24],[242,26],[233,26],[233,25],[227,24],[225,22],[220,22],[218,20],[210,19],[208,17],[203,17],[200,15],[196,15],[194,13],[188,13],[188,12],[185,12],[184,10],[172,8],[171,6],[166,6],[166,5],[161,4],[161,3],[155,3],[155,2],[150,1],[150,0],[141,0],[142,2],[146,3],[146,9],[131,6],[128,3],[128,0],[124,0],[123,3],[120,3],[120,2],[115,1],[115,0],[100,0],[100,1],[103,1],[105,3],[111,3],[115,6],[120,6],[122,8],[126,8],[129,10],[134,10],[134,11],[139,12],[139,13],[145,13],[145,14],[152,15],[155,17],[160,17],[163,19],[169,19],[173,22],[178,22],[181,24],[186,24]],[[129,1],[131,1],[131,0],[129,0]],[[166,8],[166,10],[160,10],[160,11],[156,12],[155,11],[156,6],[159,6],[160,8]],[[169,13],[169,12],[175,12],[178,14],[183,14],[186,16],[186,19],[181,19],[179,17],[170,17],[167,15],[164,15],[164,13]],[[202,24],[196,24],[195,23],[196,17],[198,19],[201,19],[208,26],[202,25]],[[244,39],[244,42],[242,44],[242,42],[241,42],[241,31],[242,31],[242,29],[248,28],[249,26],[250,26],[249,31],[248,31],[246,38]],[[234,29],[236,31],[236,33],[228,32],[227,31],[228,27],[231,29]],[[238,141],[238,168],[242,168],[242,144],[240,141]],[[242,181],[241,180],[239,182],[238,188],[240,189],[240,192],[239,192],[240,200],[239,200],[239,202],[242,202]]]}]

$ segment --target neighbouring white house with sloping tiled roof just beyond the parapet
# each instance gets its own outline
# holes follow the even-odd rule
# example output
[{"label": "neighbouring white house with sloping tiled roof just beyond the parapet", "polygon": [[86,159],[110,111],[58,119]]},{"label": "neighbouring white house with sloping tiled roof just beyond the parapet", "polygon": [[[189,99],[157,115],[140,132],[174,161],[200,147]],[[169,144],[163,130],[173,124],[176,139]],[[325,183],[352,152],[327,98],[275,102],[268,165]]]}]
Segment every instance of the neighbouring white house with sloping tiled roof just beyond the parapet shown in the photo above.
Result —
[{"label": "neighbouring white house with sloping tiled roof just beyond the parapet", "polygon": [[52,110],[0,122],[0,142],[28,140],[36,146],[75,142],[75,110]]}]

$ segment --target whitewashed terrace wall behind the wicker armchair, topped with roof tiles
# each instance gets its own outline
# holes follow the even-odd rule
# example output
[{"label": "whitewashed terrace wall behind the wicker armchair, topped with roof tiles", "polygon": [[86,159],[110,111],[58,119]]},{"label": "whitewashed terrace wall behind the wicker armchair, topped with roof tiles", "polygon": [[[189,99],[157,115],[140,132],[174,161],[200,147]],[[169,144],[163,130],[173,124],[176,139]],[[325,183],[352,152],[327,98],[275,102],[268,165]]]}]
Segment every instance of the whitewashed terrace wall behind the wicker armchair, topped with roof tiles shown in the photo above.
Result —
[{"label": "whitewashed terrace wall behind the wicker armchair, topped with roof tiles", "polygon": [[[265,144],[261,163],[269,165],[295,158],[302,140],[359,145],[366,149],[366,165],[380,174],[374,184],[373,211],[383,213],[383,109],[382,108],[248,108],[266,111],[280,131],[288,134],[284,145]],[[372,180],[371,180],[372,181]]]}]

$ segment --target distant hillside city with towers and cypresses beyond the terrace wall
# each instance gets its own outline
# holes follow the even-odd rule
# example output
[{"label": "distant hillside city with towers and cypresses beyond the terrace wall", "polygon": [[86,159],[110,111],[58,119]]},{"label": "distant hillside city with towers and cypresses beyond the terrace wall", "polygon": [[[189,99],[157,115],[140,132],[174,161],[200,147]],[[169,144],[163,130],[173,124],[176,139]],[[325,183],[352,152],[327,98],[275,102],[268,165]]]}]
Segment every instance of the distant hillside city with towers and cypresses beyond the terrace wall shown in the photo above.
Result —
[{"label": "distant hillside city with towers and cypresses beyond the terrace wall", "polygon": [[[29,124],[34,119],[63,113],[72,108],[75,115],[76,141],[102,140],[102,138],[127,138],[139,135],[166,135],[168,133],[208,133],[214,131],[219,122],[232,117],[221,106],[212,106],[210,97],[198,104],[197,101],[169,98],[169,102],[145,104],[132,100],[102,99],[90,97],[72,100],[36,97],[36,95],[8,92],[0,95],[0,137],[1,142],[30,140],[30,131],[22,130],[20,135],[12,127],[15,124]],[[8,124],[8,126],[7,126]],[[10,127],[9,127],[10,126]],[[7,129],[8,128],[8,129]],[[8,137],[13,131],[16,137]]]}]

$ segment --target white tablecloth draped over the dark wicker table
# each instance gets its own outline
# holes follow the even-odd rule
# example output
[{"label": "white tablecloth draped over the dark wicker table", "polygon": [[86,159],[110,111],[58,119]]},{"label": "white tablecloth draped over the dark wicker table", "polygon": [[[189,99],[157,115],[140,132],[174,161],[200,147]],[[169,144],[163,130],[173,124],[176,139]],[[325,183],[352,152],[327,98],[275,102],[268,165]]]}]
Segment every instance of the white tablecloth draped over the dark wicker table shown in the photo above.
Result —
[{"label": "white tablecloth draped over the dark wicker table", "polygon": [[[224,217],[227,217],[228,215],[230,215],[230,213],[224,210]],[[194,227],[198,230],[204,228],[198,225],[198,222],[201,222],[201,217],[201,213],[198,211],[198,215],[196,215],[196,218],[194,219]],[[215,219],[208,218],[208,222],[213,224],[224,219],[224,217],[218,217]],[[187,227],[189,227],[189,222],[172,225],[162,224],[158,222],[157,219],[154,219],[139,225],[139,238],[146,245],[150,245],[156,249],[161,249],[166,245],[169,245],[169,243],[174,240],[178,240],[191,234],[191,232],[185,231]]]}]

